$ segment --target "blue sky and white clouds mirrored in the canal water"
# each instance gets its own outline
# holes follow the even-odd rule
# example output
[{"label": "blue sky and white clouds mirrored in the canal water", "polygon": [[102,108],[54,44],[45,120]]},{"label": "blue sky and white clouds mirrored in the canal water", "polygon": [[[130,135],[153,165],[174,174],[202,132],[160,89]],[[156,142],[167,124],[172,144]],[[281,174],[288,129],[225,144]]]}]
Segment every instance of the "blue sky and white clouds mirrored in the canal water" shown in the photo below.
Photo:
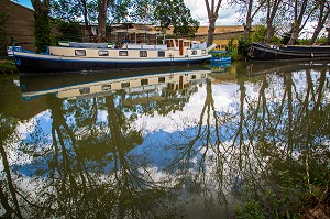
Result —
[{"label": "blue sky and white clouds mirrored in the canal water", "polygon": [[[327,77],[329,79],[329,74]],[[304,95],[306,95],[306,88],[308,86],[306,83],[306,73],[296,73],[293,75],[292,78],[294,83],[293,90],[297,91],[298,94],[293,95],[294,99],[297,98],[300,94],[302,95],[302,97],[299,96],[299,98],[304,98]],[[314,81],[317,81],[319,78],[318,73],[311,74],[311,78]],[[244,83],[246,94],[246,102],[244,103],[245,116],[251,116],[253,113],[246,110],[246,107],[249,105],[250,107],[255,107],[255,103],[260,98],[260,89],[262,83],[262,80],[252,80]],[[270,111],[272,111],[272,106],[278,106],[278,103],[282,103],[282,100],[287,97],[284,97],[284,77],[270,75],[267,77],[267,83],[270,84],[270,86],[265,90],[265,96],[267,98],[267,107]],[[314,83],[314,86],[316,85],[317,83]],[[208,142],[208,144],[206,143],[206,135],[198,138],[196,142],[194,142],[194,139],[197,136],[198,133],[198,122],[200,120],[201,111],[205,107],[205,101],[207,98],[206,88],[206,84],[199,87],[198,91],[194,92],[189,101],[184,106],[183,111],[176,110],[176,112],[170,112],[165,117],[158,114],[157,112],[155,112],[154,116],[145,116],[138,113],[138,120],[135,120],[134,123],[131,124],[131,127],[133,129],[136,128],[136,130],[143,131],[144,141],[141,145],[136,145],[124,155],[124,160],[128,164],[125,167],[129,168],[129,171],[132,171],[131,173],[139,175],[139,177],[147,182],[151,179],[160,185],[166,184],[169,187],[177,186],[178,184],[184,183],[183,188],[189,188],[189,184],[191,183],[191,180],[196,180],[197,183],[201,183],[199,180],[204,180],[202,183],[206,184],[205,186],[208,189],[219,189],[223,193],[223,196],[226,196],[226,198],[230,197],[229,194],[233,190],[241,189],[244,182],[249,180],[249,174],[251,174],[251,176],[253,176],[255,180],[264,180],[264,178],[261,178],[261,173],[264,171],[262,169],[263,166],[267,166],[266,162],[270,157],[267,157],[266,155],[257,158],[255,157],[257,154],[254,153],[254,136],[252,136],[252,139],[244,139],[242,141],[243,144],[248,145],[249,147],[246,151],[244,151],[244,153],[246,153],[244,155],[240,154],[242,153],[242,147],[240,147],[238,143],[239,136],[234,142],[233,136],[238,132],[238,120],[240,119],[239,107],[241,91],[240,86],[238,84],[228,83],[212,85],[211,97],[215,101],[217,114],[220,116],[220,119],[222,119],[222,114],[223,117],[230,118],[227,121],[223,120],[220,122],[220,131],[218,133],[220,133],[219,135],[221,139],[221,143],[219,145],[215,143],[216,136],[212,135],[216,132],[215,125],[212,127],[212,124],[215,124],[213,117],[211,117],[211,119],[209,120],[210,123],[208,123],[210,124],[209,133],[210,135],[212,135],[210,136],[210,141]],[[328,99],[327,94],[324,94],[323,100],[329,102],[329,88],[326,88],[326,92],[328,92]],[[67,105],[69,105],[70,102],[64,101],[64,103],[66,105],[65,109],[68,109]],[[124,112],[124,116],[129,118],[133,113],[136,112]],[[212,114],[213,111],[211,110],[210,113]],[[75,125],[75,117],[73,114],[74,112],[70,114],[65,114],[66,122],[69,125]],[[284,116],[287,116],[287,113],[284,113]],[[201,132],[204,133],[207,132],[207,123],[205,121],[206,118],[207,114],[205,114],[204,117],[201,127]],[[283,117],[283,120],[285,119],[286,118]],[[246,121],[248,123],[244,123],[243,127],[243,134],[246,133],[246,129],[251,129],[249,119]],[[20,177],[21,179],[18,180],[20,182],[19,186],[26,194],[31,194],[31,197],[35,197],[35,194],[42,194],[45,187],[44,185],[47,185],[50,183],[47,182],[47,177],[50,173],[52,173],[52,169],[50,169],[50,165],[54,163],[54,149],[51,147],[53,141],[51,135],[52,122],[52,112],[50,110],[46,110],[38,113],[31,120],[20,123],[16,128],[19,133],[18,141],[13,142],[11,144],[11,147],[7,149],[7,152],[10,156],[9,162],[11,164],[11,168],[16,171],[13,172],[13,175],[23,175],[23,177]],[[268,121],[266,121],[266,123]],[[109,134],[107,123],[108,111],[98,110],[96,125],[100,125],[96,128],[101,133],[105,133],[105,135]],[[279,128],[280,125],[285,125],[285,121],[284,123],[278,124],[277,128]],[[89,130],[87,127],[75,128],[76,138],[79,139],[80,134],[87,133],[88,131]],[[36,132],[41,132],[41,135],[38,136],[41,136],[43,140],[40,142],[35,141],[36,139],[34,139]],[[277,135],[275,138],[277,138]],[[284,138],[279,139],[279,141],[285,141],[285,136],[279,138]],[[22,145],[19,145],[20,141],[29,144],[26,149],[35,150],[35,152],[40,152],[40,154],[43,154],[43,150],[48,150],[51,153],[46,153],[46,155],[43,156],[31,157],[26,155],[26,152],[20,151],[22,149],[25,149],[22,147]],[[324,142],[324,145],[329,144],[329,140],[327,141],[328,142]],[[190,142],[194,142],[190,147],[191,154],[186,154],[186,156],[183,156],[183,152],[185,152],[188,143]],[[109,146],[111,146],[110,143]],[[282,147],[280,142],[277,142],[277,146]],[[77,161],[75,158],[75,152],[72,150],[72,145],[69,143],[67,144],[67,142],[66,149],[70,151],[73,155],[70,162],[73,162],[72,164],[75,166],[72,167],[72,169],[74,174],[78,174],[76,173]],[[220,152],[218,152],[217,150],[219,150]],[[114,177],[112,175],[112,172],[114,169],[113,157],[116,155],[113,155],[112,152],[109,151],[105,153],[107,154],[105,155],[105,157],[102,157],[102,161],[100,161],[99,163],[95,161],[86,161],[89,174],[92,175],[92,177],[95,176],[95,178],[99,183],[101,180],[105,180],[106,183],[111,182]],[[218,161],[217,157],[221,161]],[[238,157],[240,157],[240,161],[238,161]],[[297,154],[295,157],[297,157]],[[58,157],[59,162],[61,160],[62,157]],[[121,163],[122,161],[118,160],[118,173],[120,175],[122,171],[124,171],[124,168],[121,168],[122,166],[120,166],[123,165]],[[242,171],[239,167],[241,166],[241,163],[238,164],[238,162],[249,163],[249,171],[246,171],[246,173],[245,171]],[[172,168],[167,168],[168,165],[172,165]],[[1,165],[0,171],[2,171]],[[205,178],[202,179],[198,178],[201,174],[205,174]],[[196,178],[193,179],[193,177]],[[57,176],[55,176],[55,178],[57,178]],[[185,193],[185,189],[183,189],[183,193]],[[196,191],[196,194],[198,193],[199,191]],[[198,196],[200,196],[200,194]],[[35,197],[35,199],[41,197]],[[189,202],[188,198],[189,197],[184,198],[184,201],[187,204]]]}]

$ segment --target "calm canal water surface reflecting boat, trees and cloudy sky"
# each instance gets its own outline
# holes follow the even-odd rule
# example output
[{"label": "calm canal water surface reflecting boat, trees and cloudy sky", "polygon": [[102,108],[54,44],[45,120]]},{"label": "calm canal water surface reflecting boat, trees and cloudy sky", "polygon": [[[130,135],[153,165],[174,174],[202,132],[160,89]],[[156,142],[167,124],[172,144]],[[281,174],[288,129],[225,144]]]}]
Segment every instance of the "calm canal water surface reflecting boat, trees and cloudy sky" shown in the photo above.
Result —
[{"label": "calm canal water surface reflecting boat, trees and cloudy sky", "polygon": [[329,176],[329,69],[232,63],[2,76],[0,216],[297,212],[299,185]]}]

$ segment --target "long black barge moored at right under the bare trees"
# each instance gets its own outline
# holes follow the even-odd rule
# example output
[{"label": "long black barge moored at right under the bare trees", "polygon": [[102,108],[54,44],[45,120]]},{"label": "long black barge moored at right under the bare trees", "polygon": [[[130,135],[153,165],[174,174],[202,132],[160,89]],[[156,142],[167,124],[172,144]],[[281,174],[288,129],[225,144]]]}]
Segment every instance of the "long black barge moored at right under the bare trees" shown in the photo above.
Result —
[{"label": "long black barge moored at right under the bare trees", "polygon": [[248,55],[253,61],[330,59],[330,46],[275,46],[252,43]]}]

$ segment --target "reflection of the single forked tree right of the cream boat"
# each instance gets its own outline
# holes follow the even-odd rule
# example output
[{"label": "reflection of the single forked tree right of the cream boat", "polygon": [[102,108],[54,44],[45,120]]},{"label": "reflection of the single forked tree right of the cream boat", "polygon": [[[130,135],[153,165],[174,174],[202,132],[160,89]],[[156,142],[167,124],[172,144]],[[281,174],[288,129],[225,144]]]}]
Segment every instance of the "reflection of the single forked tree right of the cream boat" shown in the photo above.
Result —
[{"label": "reflection of the single forked tree right of the cream boat", "polygon": [[[175,143],[177,156],[170,164],[170,169],[179,169],[176,173],[178,182],[182,182],[184,189],[187,189],[187,198],[191,199],[190,201],[199,206],[204,204],[207,211],[224,206],[224,211],[228,213],[226,196],[228,178],[224,173],[226,152],[223,151],[226,136],[221,132],[221,127],[230,121],[230,118],[222,117],[217,111],[211,80],[207,80],[205,86],[206,99],[199,119],[193,121],[193,125],[196,125],[194,131],[191,131],[193,127],[186,128],[189,131],[182,134],[179,144]],[[187,121],[184,123],[188,124]]]}]

